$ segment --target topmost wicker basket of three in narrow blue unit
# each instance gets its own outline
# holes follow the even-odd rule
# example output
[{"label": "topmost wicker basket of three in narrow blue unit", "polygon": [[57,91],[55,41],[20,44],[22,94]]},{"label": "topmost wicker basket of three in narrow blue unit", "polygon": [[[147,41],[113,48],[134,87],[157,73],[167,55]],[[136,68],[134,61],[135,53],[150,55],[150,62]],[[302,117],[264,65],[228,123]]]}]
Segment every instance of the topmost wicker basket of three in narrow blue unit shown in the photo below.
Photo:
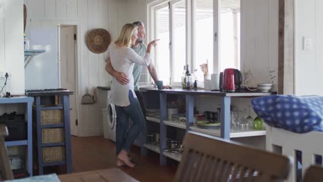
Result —
[{"label": "topmost wicker basket of three in narrow blue unit", "polygon": [[42,110],[41,111],[41,124],[59,124],[63,123],[63,110]]}]

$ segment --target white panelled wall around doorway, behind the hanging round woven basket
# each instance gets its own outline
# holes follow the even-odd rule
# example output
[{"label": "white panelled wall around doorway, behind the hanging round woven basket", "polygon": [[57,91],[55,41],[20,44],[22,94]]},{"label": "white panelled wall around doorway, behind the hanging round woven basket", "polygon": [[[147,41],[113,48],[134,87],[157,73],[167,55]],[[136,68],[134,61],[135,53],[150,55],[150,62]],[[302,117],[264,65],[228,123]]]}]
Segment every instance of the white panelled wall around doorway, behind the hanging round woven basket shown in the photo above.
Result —
[{"label": "white panelled wall around doorway, behind the hanging round woven basket", "polygon": [[[90,30],[105,28],[112,39],[119,33],[119,0],[25,0],[28,22],[52,21],[57,24],[78,26],[78,72],[79,94],[94,94],[98,85],[110,85],[110,76],[104,70],[106,52],[95,54],[88,50],[86,40]],[[27,25],[28,28],[28,25]],[[78,105],[79,136],[95,136],[102,132],[99,121],[99,104]]]}]

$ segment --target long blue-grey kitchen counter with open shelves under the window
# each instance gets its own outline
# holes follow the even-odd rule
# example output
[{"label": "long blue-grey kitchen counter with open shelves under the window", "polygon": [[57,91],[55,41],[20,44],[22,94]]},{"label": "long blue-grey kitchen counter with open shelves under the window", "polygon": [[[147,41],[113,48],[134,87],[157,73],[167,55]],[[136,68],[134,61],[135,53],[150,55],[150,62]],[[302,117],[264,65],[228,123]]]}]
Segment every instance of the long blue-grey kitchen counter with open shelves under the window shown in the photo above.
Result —
[{"label": "long blue-grey kitchen counter with open shelves under the window", "polygon": [[[276,94],[276,92],[222,92],[222,91],[210,91],[210,90],[186,90],[182,88],[174,88],[174,89],[164,89],[157,90],[157,88],[142,88],[141,92],[155,92],[159,94],[160,100],[160,117],[146,117],[148,121],[153,121],[155,123],[159,123],[159,148],[151,146],[150,144],[145,144],[144,148],[148,148],[149,150],[153,150],[155,152],[160,153],[159,163],[160,165],[166,165],[166,157],[170,157],[171,159],[175,159],[180,161],[181,154],[178,153],[169,153],[165,152],[166,150],[166,126],[173,126],[175,128],[182,128],[186,130],[186,132],[192,130],[194,132],[200,132],[204,134],[210,134],[212,136],[219,136],[223,139],[231,139],[234,137],[246,137],[246,136],[262,136],[266,134],[265,130],[233,130],[231,131],[231,97],[263,97],[271,94]],[[167,108],[166,108],[166,100],[168,94],[184,94],[186,101],[186,123],[181,123],[179,121],[167,121]],[[194,123],[194,101],[197,96],[213,96],[221,98],[221,114],[220,121],[221,127],[220,129],[202,129],[197,128],[193,125]],[[217,107],[217,106],[215,106]],[[216,109],[216,108],[215,108]],[[143,143],[146,143],[145,137]]]}]

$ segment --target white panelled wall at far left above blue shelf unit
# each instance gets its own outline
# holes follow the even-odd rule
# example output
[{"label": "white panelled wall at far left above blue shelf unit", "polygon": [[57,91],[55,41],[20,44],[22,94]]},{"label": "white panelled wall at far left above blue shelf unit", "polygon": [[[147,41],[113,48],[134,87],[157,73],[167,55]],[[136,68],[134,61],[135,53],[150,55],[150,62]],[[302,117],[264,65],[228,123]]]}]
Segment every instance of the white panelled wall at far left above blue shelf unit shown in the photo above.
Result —
[{"label": "white panelled wall at far left above blue shelf unit", "polygon": [[10,74],[6,92],[24,94],[23,60],[23,0],[0,0],[0,71]]}]

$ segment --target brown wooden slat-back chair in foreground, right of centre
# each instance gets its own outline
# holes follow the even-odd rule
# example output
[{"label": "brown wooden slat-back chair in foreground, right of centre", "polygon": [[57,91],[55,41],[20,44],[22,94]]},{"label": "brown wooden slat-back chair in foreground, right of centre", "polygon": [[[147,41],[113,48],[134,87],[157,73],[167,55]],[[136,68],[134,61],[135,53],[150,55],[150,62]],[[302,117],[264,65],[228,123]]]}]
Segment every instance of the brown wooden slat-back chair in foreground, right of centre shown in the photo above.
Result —
[{"label": "brown wooden slat-back chair in foreground, right of centre", "polygon": [[195,132],[183,145],[175,181],[281,181],[291,166],[286,156]]}]

